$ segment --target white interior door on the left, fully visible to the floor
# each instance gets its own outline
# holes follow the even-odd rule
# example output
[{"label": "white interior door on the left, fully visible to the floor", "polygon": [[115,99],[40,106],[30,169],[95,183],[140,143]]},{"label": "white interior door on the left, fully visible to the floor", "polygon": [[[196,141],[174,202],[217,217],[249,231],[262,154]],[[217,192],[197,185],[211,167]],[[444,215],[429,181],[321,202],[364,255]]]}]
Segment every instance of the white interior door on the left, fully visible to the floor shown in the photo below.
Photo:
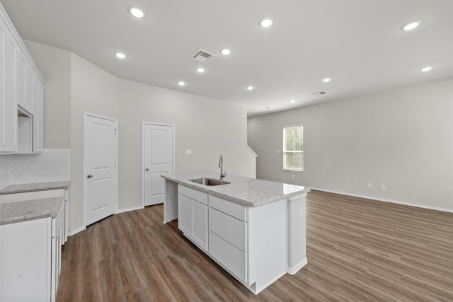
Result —
[{"label": "white interior door on the left, fully visible to the floor", "polygon": [[117,121],[86,113],[84,119],[84,221],[116,211]]}]

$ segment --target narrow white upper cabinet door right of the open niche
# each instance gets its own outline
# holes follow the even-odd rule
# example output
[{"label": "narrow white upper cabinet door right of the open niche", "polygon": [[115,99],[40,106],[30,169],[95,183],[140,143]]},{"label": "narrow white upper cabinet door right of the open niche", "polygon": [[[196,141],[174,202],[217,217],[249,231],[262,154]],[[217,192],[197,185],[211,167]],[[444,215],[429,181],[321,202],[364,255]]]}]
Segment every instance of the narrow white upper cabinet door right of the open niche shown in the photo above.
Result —
[{"label": "narrow white upper cabinet door right of the open niche", "polygon": [[42,85],[38,76],[35,76],[35,105],[33,107],[33,152],[44,151],[44,137],[43,137],[43,100],[44,100],[44,85]]}]

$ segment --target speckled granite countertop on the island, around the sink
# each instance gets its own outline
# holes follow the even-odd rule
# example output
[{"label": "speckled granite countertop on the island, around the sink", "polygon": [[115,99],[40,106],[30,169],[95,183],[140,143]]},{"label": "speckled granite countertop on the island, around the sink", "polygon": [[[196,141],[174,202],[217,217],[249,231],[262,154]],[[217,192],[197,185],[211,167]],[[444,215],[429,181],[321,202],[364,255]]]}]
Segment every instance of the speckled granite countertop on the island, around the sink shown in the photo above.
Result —
[{"label": "speckled granite countertop on the island, around the sink", "polygon": [[243,178],[235,175],[226,175],[223,180],[231,182],[227,185],[207,186],[190,181],[194,178],[206,177],[219,179],[219,173],[212,171],[176,173],[176,175],[162,175],[161,177],[247,207],[258,207],[280,199],[288,199],[310,192],[308,187],[255,178]]}]

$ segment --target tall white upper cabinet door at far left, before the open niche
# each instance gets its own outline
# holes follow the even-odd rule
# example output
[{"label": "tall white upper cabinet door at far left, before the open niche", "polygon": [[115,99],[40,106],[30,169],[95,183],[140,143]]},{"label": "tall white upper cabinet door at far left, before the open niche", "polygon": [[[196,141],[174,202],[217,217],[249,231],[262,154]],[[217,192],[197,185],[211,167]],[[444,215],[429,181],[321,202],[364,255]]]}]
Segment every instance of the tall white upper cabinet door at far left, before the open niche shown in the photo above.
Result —
[{"label": "tall white upper cabinet door at far left, before the open niche", "polygon": [[18,44],[0,18],[0,152],[18,149]]}]

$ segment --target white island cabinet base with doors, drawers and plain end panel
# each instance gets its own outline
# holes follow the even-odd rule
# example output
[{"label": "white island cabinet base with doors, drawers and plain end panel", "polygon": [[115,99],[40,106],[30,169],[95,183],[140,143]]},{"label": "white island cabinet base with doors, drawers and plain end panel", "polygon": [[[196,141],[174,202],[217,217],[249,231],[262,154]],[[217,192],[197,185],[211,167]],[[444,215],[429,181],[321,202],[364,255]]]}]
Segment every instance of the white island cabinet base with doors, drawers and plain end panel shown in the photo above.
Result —
[{"label": "white island cabinet base with doors, drawers and plain end panel", "polygon": [[287,273],[287,200],[245,207],[178,185],[178,228],[254,294]]}]

